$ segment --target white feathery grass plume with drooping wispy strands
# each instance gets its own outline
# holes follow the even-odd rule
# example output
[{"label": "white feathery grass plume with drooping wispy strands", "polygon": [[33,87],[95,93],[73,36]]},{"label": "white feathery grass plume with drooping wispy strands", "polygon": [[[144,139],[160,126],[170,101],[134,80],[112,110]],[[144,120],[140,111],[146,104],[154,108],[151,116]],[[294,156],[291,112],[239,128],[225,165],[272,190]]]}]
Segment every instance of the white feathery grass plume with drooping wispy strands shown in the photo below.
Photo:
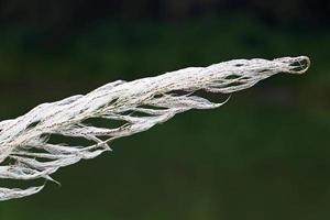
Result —
[{"label": "white feathery grass plume with drooping wispy strands", "polygon": [[[58,168],[94,158],[119,138],[148,130],[189,109],[212,109],[194,95],[197,90],[231,94],[246,89],[277,73],[302,74],[306,56],[235,59],[208,67],[190,67],[134,81],[118,80],[85,96],[43,103],[16,119],[0,122],[0,178],[51,179]],[[123,121],[118,128],[89,125],[87,119]],[[84,138],[92,144],[54,144],[50,136]],[[41,187],[0,188],[0,201],[30,196]]]}]

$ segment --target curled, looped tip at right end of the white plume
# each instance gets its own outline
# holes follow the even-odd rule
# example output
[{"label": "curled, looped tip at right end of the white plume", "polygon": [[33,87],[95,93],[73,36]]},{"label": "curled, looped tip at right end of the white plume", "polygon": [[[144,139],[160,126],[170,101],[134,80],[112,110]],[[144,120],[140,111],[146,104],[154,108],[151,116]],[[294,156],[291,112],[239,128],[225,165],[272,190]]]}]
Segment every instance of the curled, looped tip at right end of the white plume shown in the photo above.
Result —
[{"label": "curled, looped tip at right end of the white plume", "polygon": [[283,57],[274,61],[288,65],[288,68],[284,70],[284,73],[288,74],[305,74],[310,67],[310,59],[308,56]]}]

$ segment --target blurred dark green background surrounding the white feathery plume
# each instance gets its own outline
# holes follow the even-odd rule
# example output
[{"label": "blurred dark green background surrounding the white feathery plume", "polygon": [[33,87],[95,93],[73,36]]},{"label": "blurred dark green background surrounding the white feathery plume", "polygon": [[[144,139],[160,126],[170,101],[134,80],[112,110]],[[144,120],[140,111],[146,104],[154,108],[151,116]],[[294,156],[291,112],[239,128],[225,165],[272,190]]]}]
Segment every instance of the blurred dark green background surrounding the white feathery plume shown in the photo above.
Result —
[{"label": "blurred dark green background surrounding the white feathery plume", "polygon": [[0,120],[112,80],[233,58],[308,55],[311,68],[116,141],[56,173],[61,187],[1,202],[1,220],[330,218],[327,1],[97,2],[0,1]]}]

